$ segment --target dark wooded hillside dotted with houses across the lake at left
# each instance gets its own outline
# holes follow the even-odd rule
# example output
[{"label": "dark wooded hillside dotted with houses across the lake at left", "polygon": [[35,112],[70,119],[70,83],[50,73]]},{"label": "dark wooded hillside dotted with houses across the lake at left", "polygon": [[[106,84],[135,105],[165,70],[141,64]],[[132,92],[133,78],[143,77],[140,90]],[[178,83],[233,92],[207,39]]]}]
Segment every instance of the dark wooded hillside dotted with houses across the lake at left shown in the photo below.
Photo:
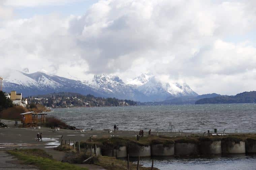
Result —
[{"label": "dark wooded hillside dotted with houses across the lake at left", "polygon": [[51,108],[71,107],[106,107],[106,106],[136,106],[132,100],[120,100],[117,98],[95,97],[93,95],[81,95],[78,93],[59,92],[47,95],[29,97],[28,102],[41,104]]}]

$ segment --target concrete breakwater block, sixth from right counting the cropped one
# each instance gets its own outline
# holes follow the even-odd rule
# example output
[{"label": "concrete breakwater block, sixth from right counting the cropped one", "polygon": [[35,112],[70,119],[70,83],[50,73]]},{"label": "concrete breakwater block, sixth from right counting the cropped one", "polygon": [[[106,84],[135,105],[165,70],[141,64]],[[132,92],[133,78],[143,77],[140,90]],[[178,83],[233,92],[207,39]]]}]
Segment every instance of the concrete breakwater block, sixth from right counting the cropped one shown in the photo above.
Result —
[{"label": "concrete breakwater block, sixth from right counting the cropped one", "polygon": [[151,147],[150,146],[139,146],[129,147],[128,149],[130,157],[150,157],[151,156]]}]

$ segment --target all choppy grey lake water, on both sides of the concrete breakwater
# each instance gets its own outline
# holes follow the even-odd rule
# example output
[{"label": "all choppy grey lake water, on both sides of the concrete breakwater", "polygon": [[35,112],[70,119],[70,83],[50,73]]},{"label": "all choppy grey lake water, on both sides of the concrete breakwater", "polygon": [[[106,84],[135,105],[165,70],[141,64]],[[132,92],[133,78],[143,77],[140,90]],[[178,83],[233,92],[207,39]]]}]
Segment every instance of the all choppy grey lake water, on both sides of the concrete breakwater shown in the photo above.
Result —
[{"label": "all choppy grey lake water, on both sides of the concrete breakwater", "polygon": [[[256,133],[256,104],[210,104],[170,106],[130,106],[53,109],[48,112],[69,125],[78,128],[102,130],[152,129],[166,131],[168,122],[184,132],[218,131]],[[143,158],[140,163],[151,167],[151,159]],[[154,167],[161,170],[240,170],[256,169],[256,156],[231,156],[212,158],[154,159]]]}]

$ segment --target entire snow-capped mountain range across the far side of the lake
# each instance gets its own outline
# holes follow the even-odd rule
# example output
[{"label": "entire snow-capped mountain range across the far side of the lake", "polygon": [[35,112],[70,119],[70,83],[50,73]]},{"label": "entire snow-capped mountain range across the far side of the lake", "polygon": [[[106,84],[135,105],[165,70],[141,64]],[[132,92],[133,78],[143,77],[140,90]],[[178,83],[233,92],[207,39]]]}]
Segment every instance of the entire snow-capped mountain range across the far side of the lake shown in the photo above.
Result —
[{"label": "entire snow-capped mountain range across the far side of the lake", "polygon": [[129,82],[117,75],[94,75],[88,80],[74,80],[45,72],[12,71],[3,80],[4,91],[22,93],[23,97],[72,92],[98,97],[115,97],[140,102],[157,102],[177,97],[198,96],[186,83],[165,82],[152,74],[141,74]]}]

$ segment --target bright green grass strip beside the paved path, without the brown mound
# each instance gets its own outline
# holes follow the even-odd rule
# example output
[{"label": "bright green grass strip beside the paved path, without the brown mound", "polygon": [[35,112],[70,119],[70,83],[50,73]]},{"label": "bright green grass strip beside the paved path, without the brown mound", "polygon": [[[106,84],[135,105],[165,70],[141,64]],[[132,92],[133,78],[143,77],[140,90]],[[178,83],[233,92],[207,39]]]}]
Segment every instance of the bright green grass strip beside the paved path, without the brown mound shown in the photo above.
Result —
[{"label": "bright green grass strip beside the paved path, without the brown mound", "polygon": [[39,156],[25,155],[20,150],[8,151],[9,154],[17,157],[23,164],[37,166],[40,170],[88,170],[69,163],[55,161],[49,158],[42,158]]}]

